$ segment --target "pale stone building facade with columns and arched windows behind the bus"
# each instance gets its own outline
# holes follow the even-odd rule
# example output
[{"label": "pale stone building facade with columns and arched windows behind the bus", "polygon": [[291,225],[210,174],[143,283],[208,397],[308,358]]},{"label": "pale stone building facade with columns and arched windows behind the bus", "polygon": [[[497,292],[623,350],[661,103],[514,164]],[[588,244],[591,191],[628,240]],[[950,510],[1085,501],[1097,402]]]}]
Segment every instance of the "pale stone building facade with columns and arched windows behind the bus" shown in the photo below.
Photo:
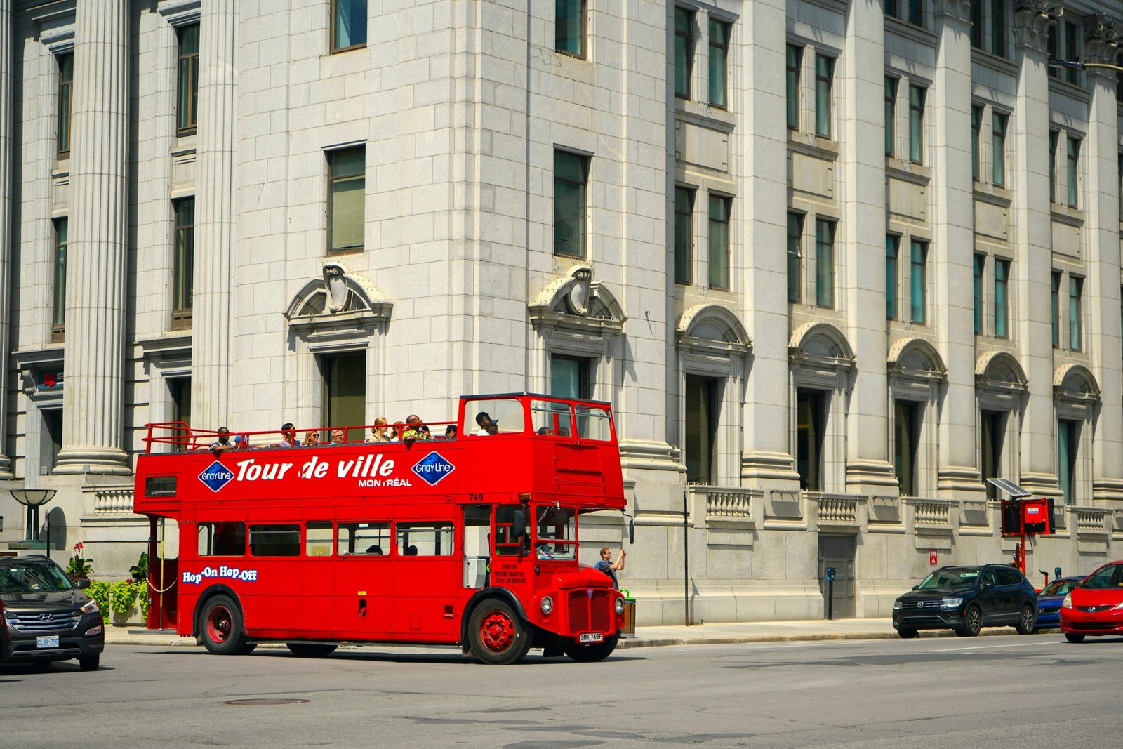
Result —
[{"label": "pale stone building facade with columns and arched windows behind the bus", "polygon": [[556,392],[615,409],[641,622],[820,616],[825,566],[837,613],[887,615],[1010,558],[993,476],[1056,501],[1031,579],[1090,572],[1123,539],[1120,99],[1049,61],[1117,63],[1117,20],[0,3],[0,477],[111,576],[148,422]]}]

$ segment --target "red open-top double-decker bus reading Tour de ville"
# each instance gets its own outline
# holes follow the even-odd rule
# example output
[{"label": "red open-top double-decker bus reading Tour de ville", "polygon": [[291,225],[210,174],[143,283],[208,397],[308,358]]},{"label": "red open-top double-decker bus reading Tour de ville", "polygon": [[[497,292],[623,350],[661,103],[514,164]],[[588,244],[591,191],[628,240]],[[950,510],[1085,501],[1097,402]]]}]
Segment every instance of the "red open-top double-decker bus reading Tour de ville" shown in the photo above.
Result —
[{"label": "red open-top double-decker bus reading Tour de ville", "polygon": [[[226,449],[214,431],[148,427],[134,510],[152,521],[149,628],[225,655],[265,641],[305,656],[460,645],[490,664],[612,652],[623,599],[577,563],[579,518],[624,509],[608,403],[464,396],[455,422],[387,432],[400,441],[341,429],[341,445],[240,432]],[[170,521],[179,556],[162,558]]]}]

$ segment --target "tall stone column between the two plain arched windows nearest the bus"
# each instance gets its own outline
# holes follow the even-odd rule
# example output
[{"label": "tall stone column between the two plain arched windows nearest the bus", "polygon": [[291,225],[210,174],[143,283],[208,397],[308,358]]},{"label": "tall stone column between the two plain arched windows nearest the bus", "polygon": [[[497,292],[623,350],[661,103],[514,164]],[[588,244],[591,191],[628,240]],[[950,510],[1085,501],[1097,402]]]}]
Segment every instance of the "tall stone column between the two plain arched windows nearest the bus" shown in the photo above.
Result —
[{"label": "tall stone column between the two plain arched windows nearest the bus", "polygon": [[787,129],[776,112],[786,107],[784,79],[785,22],[783,0],[745,3],[739,29],[743,112],[772,112],[740,118],[743,154],[739,195],[745,195],[742,231],[746,248],[745,326],[752,338],[752,375],[745,398],[745,454],[741,477],[754,486],[798,488],[795,446],[789,445],[787,366]]}]

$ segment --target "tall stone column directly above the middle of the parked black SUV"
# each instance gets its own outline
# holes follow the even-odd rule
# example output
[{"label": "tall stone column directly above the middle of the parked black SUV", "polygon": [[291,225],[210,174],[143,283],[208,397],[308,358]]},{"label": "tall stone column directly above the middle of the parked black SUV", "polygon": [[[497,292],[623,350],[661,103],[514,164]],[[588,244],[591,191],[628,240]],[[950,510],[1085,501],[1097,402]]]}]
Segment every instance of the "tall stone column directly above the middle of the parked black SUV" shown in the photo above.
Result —
[{"label": "tall stone column directly above the middle of the parked black SUV", "polygon": [[[935,79],[932,81],[932,221],[935,319],[948,384],[940,414],[939,491],[982,493],[975,460],[975,336],[971,287],[975,237],[971,184],[970,3],[935,3]],[[934,258],[933,258],[934,259]]]}]

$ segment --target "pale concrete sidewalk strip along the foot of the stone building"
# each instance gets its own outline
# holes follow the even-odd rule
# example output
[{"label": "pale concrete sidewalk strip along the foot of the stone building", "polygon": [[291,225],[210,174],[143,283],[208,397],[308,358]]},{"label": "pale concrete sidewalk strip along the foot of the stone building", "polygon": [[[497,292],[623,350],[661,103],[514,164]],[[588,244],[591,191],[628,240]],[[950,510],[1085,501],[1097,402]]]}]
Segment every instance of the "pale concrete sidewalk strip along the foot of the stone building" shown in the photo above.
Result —
[{"label": "pale concrete sidewalk strip along the foot of the stone building", "polygon": [[[1008,628],[984,630],[1002,633]],[[922,637],[952,632],[923,632]],[[634,637],[620,639],[617,648],[652,648],[673,645],[728,645],[736,642],[787,642],[801,640],[877,640],[896,637],[888,619],[837,619],[786,622],[733,622],[695,624],[693,627],[637,627]],[[107,627],[108,645],[150,645],[156,647],[190,646],[194,638],[174,632],[158,632],[131,627]],[[380,646],[384,647],[384,646]]]}]

